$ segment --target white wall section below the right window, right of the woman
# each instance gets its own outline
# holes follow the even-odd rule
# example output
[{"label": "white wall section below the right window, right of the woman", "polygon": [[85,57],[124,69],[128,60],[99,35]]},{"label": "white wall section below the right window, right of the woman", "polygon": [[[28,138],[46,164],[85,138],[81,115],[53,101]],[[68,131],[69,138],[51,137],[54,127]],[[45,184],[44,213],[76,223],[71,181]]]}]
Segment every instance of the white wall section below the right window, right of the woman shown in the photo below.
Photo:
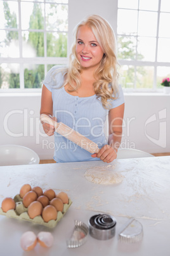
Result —
[{"label": "white wall section below the right window, right of the woman", "polygon": [[126,94],[125,106],[122,147],[170,152],[170,94]]}]

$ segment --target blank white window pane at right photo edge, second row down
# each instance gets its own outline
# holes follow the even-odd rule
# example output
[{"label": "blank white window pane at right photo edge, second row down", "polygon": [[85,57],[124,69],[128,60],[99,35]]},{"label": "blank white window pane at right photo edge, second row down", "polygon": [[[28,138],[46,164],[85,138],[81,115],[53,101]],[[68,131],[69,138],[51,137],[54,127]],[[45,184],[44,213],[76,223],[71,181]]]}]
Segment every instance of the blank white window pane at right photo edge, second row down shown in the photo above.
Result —
[{"label": "blank white window pane at right photo edge, second row down", "polygon": [[160,13],[159,36],[170,38],[170,29],[167,24],[170,24],[170,13]]}]

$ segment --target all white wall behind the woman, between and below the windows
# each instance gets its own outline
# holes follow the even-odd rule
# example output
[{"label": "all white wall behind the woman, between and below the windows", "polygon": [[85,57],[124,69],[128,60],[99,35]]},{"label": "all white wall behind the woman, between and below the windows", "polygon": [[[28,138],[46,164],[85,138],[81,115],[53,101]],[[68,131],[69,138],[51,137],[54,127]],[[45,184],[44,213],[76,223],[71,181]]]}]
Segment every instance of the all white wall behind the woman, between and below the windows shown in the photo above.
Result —
[{"label": "all white wall behind the woman, between and below the windows", "polygon": [[[74,26],[89,14],[106,18],[115,29],[115,1],[69,0],[69,49]],[[148,153],[170,152],[170,94],[125,94],[122,147]],[[41,93],[0,95],[0,144],[32,148],[40,159],[53,158],[53,138],[39,122]],[[1,157],[1,156],[0,156]]]}]

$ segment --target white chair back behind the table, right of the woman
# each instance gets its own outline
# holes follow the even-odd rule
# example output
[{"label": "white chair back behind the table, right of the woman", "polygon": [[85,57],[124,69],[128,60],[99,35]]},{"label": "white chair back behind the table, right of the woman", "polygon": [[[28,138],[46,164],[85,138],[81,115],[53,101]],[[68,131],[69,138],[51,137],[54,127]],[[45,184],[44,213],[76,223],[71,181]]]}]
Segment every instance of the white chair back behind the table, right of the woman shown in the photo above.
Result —
[{"label": "white chair back behind the table, right of the woman", "polygon": [[136,150],[133,148],[119,148],[117,152],[117,159],[140,158],[140,157],[155,157],[150,153]]}]

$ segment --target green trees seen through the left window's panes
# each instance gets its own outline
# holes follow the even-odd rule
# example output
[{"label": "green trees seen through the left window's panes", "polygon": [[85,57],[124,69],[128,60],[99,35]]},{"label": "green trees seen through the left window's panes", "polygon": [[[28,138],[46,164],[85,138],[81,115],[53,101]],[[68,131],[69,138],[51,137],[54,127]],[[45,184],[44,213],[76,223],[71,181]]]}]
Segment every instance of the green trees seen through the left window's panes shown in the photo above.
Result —
[{"label": "green trees seen through the left window's panes", "polygon": [[[16,15],[10,13],[8,2],[3,3],[4,17],[6,20],[6,28],[16,28]],[[53,5],[51,5],[53,8]],[[58,21],[60,24],[62,20]],[[30,15],[29,29],[36,29],[36,31],[29,31],[29,36],[23,34],[23,40],[32,46],[36,52],[36,57],[44,57],[44,17],[42,16],[41,4],[34,3],[32,15]],[[27,38],[27,39],[26,39]],[[10,45],[11,41],[18,40],[18,31],[6,30],[6,45]],[[47,57],[67,57],[67,34],[62,32],[46,32],[46,55]],[[44,64],[29,65],[30,68],[24,68],[24,84],[25,88],[41,88],[42,80],[44,79]],[[7,73],[0,68],[0,88],[5,80],[9,88],[20,88],[19,73]]]}]

